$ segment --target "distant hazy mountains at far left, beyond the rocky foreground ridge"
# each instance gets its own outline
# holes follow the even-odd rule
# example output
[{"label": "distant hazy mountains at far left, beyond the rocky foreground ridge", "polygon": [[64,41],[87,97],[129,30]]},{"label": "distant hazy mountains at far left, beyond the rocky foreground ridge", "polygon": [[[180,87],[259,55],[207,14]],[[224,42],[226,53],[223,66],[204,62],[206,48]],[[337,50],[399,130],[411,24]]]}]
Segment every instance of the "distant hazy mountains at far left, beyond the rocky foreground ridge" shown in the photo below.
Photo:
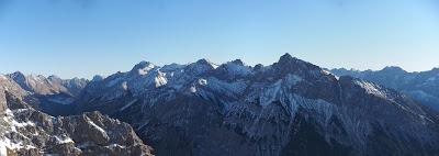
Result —
[{"label": "distant hazy mountains at far left, beyond the rocky foreground ridge", "polygon": [[87,86],[87,79],[60,79],[57,76],[24,75],[20,71],[5,75],[27,92],[24,101],[50,115],[71,112],[77,96]]}]

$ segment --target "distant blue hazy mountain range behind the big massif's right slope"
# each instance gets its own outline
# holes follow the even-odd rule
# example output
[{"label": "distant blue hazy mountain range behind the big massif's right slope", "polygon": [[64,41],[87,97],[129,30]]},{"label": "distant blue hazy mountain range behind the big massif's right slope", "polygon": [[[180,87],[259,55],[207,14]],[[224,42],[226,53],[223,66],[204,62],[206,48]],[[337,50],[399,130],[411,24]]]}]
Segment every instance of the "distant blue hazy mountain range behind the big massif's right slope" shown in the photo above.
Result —
[{"label": "distant blue hazy mountain range behind the big massif's right slope", "polygon": [[407,73],[399,67],[385,67],[382,70],[331,69],[337,76],[352,76],[402,91],[416,101],[439,111],[439,68],[428,71]]}]

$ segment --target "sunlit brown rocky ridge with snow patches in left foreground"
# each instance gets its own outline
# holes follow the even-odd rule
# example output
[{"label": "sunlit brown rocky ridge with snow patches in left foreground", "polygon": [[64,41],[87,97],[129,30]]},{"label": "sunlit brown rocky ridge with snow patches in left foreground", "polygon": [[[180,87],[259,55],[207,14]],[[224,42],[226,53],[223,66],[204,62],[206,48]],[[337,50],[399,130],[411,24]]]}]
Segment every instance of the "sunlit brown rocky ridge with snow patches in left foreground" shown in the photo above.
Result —
[{"label": "sunlit brown rocky ridge with snow patches in left foreground", "polygon": [[5,91],[0,155],[151,155],[133,129],[99,112],[54,118]]}]

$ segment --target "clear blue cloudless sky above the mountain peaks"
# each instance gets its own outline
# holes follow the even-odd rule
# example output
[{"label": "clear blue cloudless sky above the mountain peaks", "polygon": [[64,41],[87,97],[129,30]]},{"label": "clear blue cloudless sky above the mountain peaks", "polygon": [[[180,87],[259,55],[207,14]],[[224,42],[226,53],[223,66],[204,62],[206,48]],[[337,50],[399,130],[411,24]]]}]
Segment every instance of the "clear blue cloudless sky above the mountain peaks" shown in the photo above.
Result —
[{"label": "clear blue cloudless sky above the mountain peaks", "polygon": [[439,0],[0,0],[0,73],[108,76],[140,60],[439,66]]}]

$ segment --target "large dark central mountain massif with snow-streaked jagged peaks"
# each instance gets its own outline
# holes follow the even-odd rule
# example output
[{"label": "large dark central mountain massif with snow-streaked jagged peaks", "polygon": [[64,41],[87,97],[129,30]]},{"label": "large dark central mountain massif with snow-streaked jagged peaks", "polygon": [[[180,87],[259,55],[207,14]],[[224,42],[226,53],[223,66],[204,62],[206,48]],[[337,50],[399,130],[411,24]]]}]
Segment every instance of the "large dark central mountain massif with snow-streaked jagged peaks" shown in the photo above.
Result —
[{"label": "large dark central mountain massif with snow-streaked jagged peaks", "polygon": [[[271,66],[143,62],[97,78],[77,112],[130,123],[157,155],[435,155],[438,114],[285,54]],[[105,141],[104,136],[97,138]]]}]

